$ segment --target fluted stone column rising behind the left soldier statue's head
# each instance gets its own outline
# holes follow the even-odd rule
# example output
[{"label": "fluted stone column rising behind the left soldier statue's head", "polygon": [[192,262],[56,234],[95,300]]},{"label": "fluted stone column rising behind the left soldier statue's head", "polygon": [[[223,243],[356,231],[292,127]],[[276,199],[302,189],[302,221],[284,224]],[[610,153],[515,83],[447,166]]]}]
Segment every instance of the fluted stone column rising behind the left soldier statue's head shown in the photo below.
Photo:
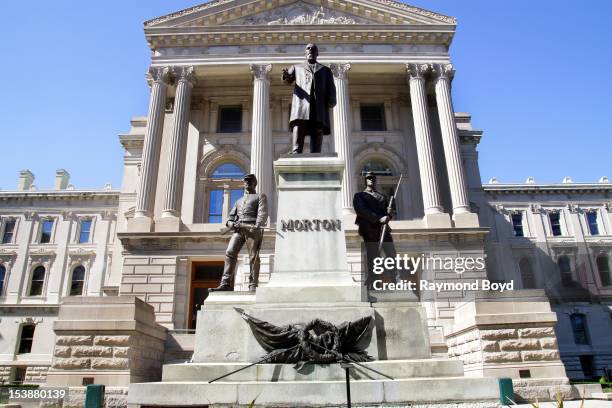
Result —
[{"label": "fluted stone column rising behind the left soldier statue's head", "polygon": [[251,64],[253,74],[253,123],[251,124],[251,173],[257,192],[268,197],[272,213],[272,130],[270,128],[270,71],[272,64]]}]

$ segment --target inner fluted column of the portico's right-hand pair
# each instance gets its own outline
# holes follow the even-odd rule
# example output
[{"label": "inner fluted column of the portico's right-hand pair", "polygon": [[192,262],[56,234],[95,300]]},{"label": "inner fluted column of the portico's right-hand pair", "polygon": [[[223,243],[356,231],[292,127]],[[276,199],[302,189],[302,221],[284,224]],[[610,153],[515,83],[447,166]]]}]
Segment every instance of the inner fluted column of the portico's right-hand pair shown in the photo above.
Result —
[{"label": "inner fluted column of the portico's right-hand pair", "polygon": [[450,227],[450,217],[443,212],[438,191],[438,176],[434,162],[429,115],[427,112],[427,93],[425,75],[430,70],[428,64],[406,64],[410,99],[414,119],[417,154],[419,156],[419,173],[423,192],[425,225],[431,228]]}]

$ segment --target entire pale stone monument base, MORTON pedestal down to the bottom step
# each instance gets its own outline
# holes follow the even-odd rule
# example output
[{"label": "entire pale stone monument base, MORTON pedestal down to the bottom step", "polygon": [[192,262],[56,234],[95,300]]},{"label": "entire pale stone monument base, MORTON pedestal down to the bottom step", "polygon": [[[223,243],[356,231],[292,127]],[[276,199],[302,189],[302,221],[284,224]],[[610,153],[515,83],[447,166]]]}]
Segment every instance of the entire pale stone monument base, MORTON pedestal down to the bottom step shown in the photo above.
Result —
[{"label": "entire pale stone monument base, MORTON pedestal down to the bottom step", "polygon": [[[131,384],[133,406],[206,404],[312,407],[346,403],[339,364],[258,364],[266,355],[239,310],[276,326],[322,319],[338,326],[365,316],[374,327],[365,363],[356,366],[356,404],[466,402],[496,406],[497,380],[464,378],[462,363],[432,359],[426,315],[415,299],[368,296],[348,270],[341,204],[344,163],[321,154],[274,163],[278,191],[274,270],[250,292],[215,292],[198,312],[192,362],[165,365],[162,382]],[[448,217],[448,214],[446,214]],[[390,295],[390,296],[387,296]],[[238,309],[238,310],[236,310]],[[208,381],[239,368],[240,373]],[[484,404],[481,404],[484,403]]]}]

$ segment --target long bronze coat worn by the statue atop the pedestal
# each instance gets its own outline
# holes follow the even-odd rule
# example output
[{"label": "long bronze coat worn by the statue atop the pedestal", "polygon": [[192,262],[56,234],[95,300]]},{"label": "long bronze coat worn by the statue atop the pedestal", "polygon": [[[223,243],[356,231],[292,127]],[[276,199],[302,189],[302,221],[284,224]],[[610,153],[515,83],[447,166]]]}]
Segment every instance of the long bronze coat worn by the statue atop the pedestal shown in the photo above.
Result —
[{"label": "long bronze coat worn by the statue atop the pedestal", "polygon": [[291,101],[291,117],[289,119],[289,130],[293,130],[296,121],[308,121],[313,115],[324,135],[330,134],[329,109],[336,106],[336,86],[334,76],[329,67],[318,62],[314,65],[314,72],[308,62],[293,65],[288,70],[286,83],[295,81],[293,87],[293,99]]}]

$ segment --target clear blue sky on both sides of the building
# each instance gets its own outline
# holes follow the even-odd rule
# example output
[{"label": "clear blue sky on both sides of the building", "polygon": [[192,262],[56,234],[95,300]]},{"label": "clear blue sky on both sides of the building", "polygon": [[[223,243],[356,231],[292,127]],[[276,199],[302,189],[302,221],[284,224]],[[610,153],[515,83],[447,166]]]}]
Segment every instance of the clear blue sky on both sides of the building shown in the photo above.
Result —
[{"label": "clear blue sky on both sides of the building", "polygon": [[[117,134],[146,115],[142,23],[195,0],[4,2],[0,188],[121,182]],[[612,1],[414,0],[459,20],[455,109],[485,131],[483,181],[612,177]]]}]

